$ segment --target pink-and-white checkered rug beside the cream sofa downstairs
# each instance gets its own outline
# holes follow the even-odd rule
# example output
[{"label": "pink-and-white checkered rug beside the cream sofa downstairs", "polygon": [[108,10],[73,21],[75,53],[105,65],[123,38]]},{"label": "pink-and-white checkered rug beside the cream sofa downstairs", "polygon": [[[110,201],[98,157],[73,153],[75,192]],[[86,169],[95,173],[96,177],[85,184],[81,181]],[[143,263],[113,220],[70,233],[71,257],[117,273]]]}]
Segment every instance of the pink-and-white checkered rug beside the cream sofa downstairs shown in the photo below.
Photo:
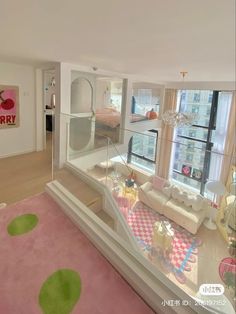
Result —
[{"label": "pink-and-white checkered rug beside the cream sofa downstairs", "polygon": [[[166,220],[166,217],[154,212],[151,208],[137,202],[127,215],[127,222],[143,250],[152,252],[153,226],[156,221]],[[197,247],[201,245],[200,239],[169,221],[174,231],[172,240],[172,252],[163,258],[162,264],[170,271],[173,271],[177,280],[181,283],[186,281],[183,271],[191,271],[192,263],[197,260]]]}]

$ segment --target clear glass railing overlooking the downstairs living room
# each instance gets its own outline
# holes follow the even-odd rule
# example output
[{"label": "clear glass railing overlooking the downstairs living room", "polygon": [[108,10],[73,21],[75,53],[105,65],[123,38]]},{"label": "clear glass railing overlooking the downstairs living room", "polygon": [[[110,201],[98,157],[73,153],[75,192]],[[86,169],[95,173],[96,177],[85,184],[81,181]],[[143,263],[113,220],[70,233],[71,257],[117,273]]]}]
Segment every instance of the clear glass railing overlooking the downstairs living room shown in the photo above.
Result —
[{"label": "clear glass railing overlooking the downstairs living room", "polygon": [[[105,128],[101,132],[97,130],[93,116],[64,115],[62,120],[66,130],[64,162],[103,184],[116,207],[104,208],[104,195],[72,168],[54,167],[54,179],[115,232],[117,220],[122,217],[122,223],[125,222],[137,243],[138,252],[155,267],[157,275],[162,272],[168,280],[196,298],[193,299],[196,311],[201,303],[209,311],[233,313],[236,273],[233,246],[236,240],[235,223],[230,226],[228,223],[235,207],[235,196],[227,204],[226,197],[231,193],[229,187],[226,186],[218,198],[205,188],[208,201],[205,199],[203,203],[199,185],[205,174],[198,164],[198,158],[201,160],[205,155],[202,147],[194,147],[190,152],[187,143],[166,141],[166,145],[186,148],[186,156],[172,160],[176,170],[172,179],[155,182],[153,176],[160,171],[160,144],[165,142],[161,134],[139,133],[120,127],[113,131]],[[115,138],[115,143],[109,134]],[[153,159],[154,145],[156,160]],[[190,153],[195,164],[184,159],[190,158]],[[229,166],[231,158],[211,152],[211,161],[224,168],[224,165]],[[184,171],[184,165],[190,172]],[[213,170],[210,169],[207,181],[220,180]],[[180,195],[174,196],[173,186],[181,188]],[[195,201],[194,194],[198,195]],[[119,214],[111,214],[112,210]],[[209,218],[214,228],[205,224]]]}]

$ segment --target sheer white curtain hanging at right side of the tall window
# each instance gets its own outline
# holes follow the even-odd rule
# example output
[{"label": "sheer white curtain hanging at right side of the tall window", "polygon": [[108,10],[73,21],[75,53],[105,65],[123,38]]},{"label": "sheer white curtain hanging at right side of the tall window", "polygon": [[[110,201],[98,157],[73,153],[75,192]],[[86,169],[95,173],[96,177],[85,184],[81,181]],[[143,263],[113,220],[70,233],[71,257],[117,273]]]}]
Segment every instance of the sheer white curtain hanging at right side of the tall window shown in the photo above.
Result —
[{"label": "sheer white curtain hanging at right side of the tall window", "polygon": [[222,183],[226,181],[228,163],[230,164],[232,153],[231,149],[227,148],[229,146],[228,142],[231,142],[233,137],[231,126],[233,125],[233,120],[235,125],[235,103],[232,100],[232,92],[219,93],[216,129],[212,137],[213,148],[209,180],[220,180]]}]

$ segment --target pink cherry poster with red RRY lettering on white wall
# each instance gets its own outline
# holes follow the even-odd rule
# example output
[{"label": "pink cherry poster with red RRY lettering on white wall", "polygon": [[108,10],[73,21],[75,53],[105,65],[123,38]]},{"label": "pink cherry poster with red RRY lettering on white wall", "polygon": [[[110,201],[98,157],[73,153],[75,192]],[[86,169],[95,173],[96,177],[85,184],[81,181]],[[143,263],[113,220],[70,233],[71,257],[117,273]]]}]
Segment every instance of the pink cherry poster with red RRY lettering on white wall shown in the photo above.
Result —
[{"label": "pink cherry poster with red RRY lettering on white wall", "polygon": [[19,126],[19,87],[0,85],[0,129]]}]

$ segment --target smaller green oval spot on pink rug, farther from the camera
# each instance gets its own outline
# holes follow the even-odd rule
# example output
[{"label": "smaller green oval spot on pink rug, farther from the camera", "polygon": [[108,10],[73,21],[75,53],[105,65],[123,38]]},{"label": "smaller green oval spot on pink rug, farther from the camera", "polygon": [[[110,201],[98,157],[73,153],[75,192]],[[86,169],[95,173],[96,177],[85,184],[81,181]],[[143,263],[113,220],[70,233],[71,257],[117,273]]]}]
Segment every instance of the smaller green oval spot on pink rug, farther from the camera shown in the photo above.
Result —
[{"label": "smaller green oval spot on pink rug, farther from the camera", "polygon": [[38,223],[38,217],[34,214],[25,214],[13,219],[7,226],[11,236],[18,236],[34,229]]}]

